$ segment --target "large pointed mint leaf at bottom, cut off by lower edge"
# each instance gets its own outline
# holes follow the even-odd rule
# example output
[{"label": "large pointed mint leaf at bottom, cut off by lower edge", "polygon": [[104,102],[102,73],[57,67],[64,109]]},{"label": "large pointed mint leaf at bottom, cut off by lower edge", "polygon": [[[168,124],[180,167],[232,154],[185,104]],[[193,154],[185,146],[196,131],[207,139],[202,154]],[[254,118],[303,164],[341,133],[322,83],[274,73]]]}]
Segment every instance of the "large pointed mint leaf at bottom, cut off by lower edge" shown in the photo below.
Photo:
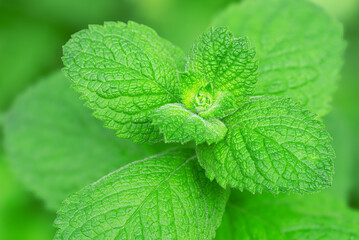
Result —
[{"label": "large pointed mint leaf at bottom, cut off by lower edge", "polygon": [[73,194],[55,239],[212,239],[229,191],[210,182],[192,152],[129,164]]}]

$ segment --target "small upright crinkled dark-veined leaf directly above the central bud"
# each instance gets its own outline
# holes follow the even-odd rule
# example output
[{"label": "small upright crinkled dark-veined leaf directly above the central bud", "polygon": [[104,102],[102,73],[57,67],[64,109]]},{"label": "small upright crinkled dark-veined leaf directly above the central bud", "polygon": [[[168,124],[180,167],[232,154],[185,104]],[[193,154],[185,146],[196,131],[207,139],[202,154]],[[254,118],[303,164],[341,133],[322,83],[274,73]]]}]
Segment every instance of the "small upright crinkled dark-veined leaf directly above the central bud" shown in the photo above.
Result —
[{"label": "small upright crinkled dark-veined leaf directly above the central bud", "polygon": [[211,28],[194,44],[188,68],[216,90],[248,95],[256,83],[254,56],[246,38],[234,38],[226,27]]}]

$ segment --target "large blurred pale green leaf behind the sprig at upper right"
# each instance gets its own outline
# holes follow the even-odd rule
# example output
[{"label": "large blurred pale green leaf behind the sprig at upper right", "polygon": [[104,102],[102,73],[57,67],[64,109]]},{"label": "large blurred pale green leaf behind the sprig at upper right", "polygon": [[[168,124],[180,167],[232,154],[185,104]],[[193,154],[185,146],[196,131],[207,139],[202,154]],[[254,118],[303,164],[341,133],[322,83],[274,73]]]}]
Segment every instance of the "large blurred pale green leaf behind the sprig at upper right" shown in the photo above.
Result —
[{"label": "large blurred pale green leaf behind the sprig at upper right", "polygon": [[232,5],[213,25],[251,39],[257,95],[288,96],[321,116],[328,112],[345,44],[341,24],[325,11],[307,1],[252,0]]}]

